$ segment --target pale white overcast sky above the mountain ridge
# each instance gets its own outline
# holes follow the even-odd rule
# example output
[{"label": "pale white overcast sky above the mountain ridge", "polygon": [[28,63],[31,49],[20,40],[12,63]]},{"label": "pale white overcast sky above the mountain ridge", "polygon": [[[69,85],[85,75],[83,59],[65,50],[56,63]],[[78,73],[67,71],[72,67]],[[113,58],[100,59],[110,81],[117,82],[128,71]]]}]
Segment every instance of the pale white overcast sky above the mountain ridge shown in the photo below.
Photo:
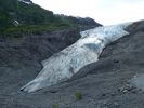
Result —
[{"label": "pale white overcast sky above the mountain ridge", "polygon": [[144,19],[144,0],[31,0],[55,14],[91,17],[103,25]]}]

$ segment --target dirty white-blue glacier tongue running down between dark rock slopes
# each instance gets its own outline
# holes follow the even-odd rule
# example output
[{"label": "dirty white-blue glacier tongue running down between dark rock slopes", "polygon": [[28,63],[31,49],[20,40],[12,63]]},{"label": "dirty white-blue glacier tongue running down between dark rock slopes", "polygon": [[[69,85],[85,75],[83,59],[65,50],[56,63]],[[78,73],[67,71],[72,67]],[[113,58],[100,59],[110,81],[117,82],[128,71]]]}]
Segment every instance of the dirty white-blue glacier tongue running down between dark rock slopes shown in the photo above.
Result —
[{"label": "dirty white-blue glacier tongue running down between dark rock slopes", "polygon": [[82,67],[97,62],[107,44],[129,35],[125,28],[131,24],[102,26],[81,31],[81,38],[76,43],[43,60],[43,69],[21,91],[36,92],[70,79]]}]

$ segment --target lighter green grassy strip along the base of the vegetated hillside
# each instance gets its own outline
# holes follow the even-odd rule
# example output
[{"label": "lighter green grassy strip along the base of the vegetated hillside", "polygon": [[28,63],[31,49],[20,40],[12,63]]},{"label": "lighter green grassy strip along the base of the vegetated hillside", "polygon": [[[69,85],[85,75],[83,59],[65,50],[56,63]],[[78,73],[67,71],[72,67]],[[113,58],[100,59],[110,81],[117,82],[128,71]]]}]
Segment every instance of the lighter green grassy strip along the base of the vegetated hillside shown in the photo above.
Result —
[{"label": "lighter green grassy strip along the base of the vegetated hillside", "polygon": [[24,35],[42,35],[52,30],[75,28],[76,26],[69,24],[47,24],[47,25],[22,25],[22,26],[10,26],[0,29],[0,32],[11,38],[21,38]]}]

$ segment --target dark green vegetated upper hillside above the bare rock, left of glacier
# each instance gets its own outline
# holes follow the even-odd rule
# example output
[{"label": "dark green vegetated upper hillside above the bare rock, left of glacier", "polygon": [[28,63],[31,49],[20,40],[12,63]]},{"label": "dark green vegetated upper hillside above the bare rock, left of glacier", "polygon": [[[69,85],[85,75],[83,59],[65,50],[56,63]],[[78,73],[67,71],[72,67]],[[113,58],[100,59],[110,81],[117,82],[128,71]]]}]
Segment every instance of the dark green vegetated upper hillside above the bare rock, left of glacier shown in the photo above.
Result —
[{"label": "dark green vegetated upper hillside above the bare rock, left of glacier", "polygon": [[[15,24],[15,21],[18,24]],[[91,18],[55,15],[37,4],[26,4],[18,0],[0,0],[0,35],[22,37],[23,35],[41,35],[55,29],[80,28],[93,25]]]}]

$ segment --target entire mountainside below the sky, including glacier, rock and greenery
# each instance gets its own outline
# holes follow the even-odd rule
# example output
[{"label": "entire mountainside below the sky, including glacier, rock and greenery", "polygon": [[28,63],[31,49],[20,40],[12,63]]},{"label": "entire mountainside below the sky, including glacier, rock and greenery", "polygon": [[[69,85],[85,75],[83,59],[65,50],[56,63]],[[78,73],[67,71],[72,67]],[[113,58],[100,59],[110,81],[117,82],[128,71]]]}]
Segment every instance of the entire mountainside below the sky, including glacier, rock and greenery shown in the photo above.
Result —
[{"label": "entire mountainside below the sky, including glacier, rock and greenery", "polygon": [[0,108],[143,108],[144,21],[99,26],[1,0]]}]

